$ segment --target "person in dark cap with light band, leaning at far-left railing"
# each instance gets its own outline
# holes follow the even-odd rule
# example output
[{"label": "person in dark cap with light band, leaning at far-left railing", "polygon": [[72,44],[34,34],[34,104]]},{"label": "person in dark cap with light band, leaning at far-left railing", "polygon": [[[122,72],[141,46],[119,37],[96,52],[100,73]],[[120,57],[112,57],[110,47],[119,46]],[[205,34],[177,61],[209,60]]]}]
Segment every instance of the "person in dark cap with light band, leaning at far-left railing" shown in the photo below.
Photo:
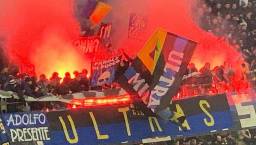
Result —
[{"label": "person in dark cap with light band, leaning at far-left railing", "polygon": [[16,83],[14,79],[10,79],[8,84],[4,88],[5,91],[16,92],[22,104],[26,105],[26,100],[24,99],[23,92],[21,90],[21,85]]}]

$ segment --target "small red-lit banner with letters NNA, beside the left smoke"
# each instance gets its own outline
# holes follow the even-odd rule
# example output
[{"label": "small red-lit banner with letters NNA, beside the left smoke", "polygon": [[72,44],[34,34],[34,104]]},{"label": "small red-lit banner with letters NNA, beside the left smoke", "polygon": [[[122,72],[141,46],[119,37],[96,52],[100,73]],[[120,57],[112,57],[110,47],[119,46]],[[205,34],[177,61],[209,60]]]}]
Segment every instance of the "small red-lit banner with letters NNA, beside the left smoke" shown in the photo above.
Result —
[{"label": "small red-lit banner with letters NNA, beside the left smoke", "polygon": [[100,45],[100,36],[79,37],[74,46],[84,53],[95,53]]}]

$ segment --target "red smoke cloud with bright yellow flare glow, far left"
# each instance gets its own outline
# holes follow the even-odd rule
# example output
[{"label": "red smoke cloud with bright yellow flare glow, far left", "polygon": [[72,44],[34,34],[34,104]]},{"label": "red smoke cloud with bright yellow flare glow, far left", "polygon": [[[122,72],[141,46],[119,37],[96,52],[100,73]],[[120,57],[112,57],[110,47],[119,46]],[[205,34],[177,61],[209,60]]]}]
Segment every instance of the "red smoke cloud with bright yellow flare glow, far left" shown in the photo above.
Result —
[{"label": "red smoke cloud with bright yellow flare glow, far left", "polygon": [[73,18],[72,0],[2,0],[0,33],[6,37],[9,58],[19,66],[33,64],[37,75],[86,68],[81,52],[72,46],[80,30]]}]

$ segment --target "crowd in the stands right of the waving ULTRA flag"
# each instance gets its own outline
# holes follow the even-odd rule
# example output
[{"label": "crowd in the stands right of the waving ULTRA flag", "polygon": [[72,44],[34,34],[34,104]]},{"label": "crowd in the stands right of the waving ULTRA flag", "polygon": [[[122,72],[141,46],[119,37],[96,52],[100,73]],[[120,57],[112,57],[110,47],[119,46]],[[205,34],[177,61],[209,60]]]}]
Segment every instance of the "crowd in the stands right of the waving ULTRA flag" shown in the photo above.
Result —
[{"label": "crowd in the stands right of the waving ULTRA flag", "polygon": [[235,72],[229,62],[224,62],[219,67],[214,66],[213,70],[209,69],[211,64],[206,63],[199,71],[194,64],[190,64],[178,97],[241,90],[255,86],[256,1],[201,0],[192,9],[196,12],[199,18],[196,21],[202,29],[220,37],[242,53],[243,58],[239,63],[243,67],[244,81],[232,80]]}]

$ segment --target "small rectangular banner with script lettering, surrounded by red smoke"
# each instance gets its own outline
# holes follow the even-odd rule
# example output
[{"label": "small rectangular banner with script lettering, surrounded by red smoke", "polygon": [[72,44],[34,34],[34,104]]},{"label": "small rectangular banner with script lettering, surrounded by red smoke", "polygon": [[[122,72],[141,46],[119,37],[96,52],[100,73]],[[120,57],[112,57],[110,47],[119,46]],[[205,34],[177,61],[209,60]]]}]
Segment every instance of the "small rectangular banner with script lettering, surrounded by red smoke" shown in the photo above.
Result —
[{"label": "small rectangular banner with script lettering, surrounded by red smoke", "polygon": [[128,38],[144,39],[147,32],[147,21],[147,16],[130,13]]}]

